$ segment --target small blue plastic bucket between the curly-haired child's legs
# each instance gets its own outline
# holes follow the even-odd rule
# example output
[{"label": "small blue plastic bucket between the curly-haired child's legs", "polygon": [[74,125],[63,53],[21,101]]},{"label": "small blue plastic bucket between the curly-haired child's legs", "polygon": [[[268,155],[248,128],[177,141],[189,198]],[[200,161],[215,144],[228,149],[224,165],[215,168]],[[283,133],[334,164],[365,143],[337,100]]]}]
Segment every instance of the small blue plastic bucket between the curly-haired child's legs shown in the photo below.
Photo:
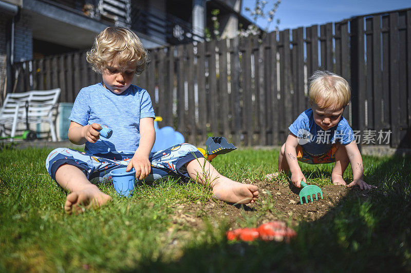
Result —
[{"label": "small blue plastic bucket between the curly-haired child's legs", "polygon": [[113,185],[121,197],[129,197],[134,193],[136,185],[136,170],[133,168],[126,172],[126,168],[118,168],[110,171]]}]

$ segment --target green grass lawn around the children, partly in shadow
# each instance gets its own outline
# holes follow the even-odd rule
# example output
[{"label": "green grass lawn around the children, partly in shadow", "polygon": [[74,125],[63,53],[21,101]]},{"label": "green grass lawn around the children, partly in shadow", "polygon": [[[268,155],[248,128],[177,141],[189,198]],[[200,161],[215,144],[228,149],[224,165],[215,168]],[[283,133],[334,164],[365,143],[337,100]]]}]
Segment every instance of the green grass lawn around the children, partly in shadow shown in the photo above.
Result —
[{"label": "green grass lawn around the children, partly in shadow", "polygon": [[[325,217],[300,221],[289,244],[225,239],[228,223],[198,213],[205,227],[173,223],[177,204],[210,200],[196,183],[165,179],[138,187],[131,199],[68,216],[66,193],[45,169],[49,149],[0,151],[0,272],[3,271],[410,271],[411,158],[363,157],[366,201],[339,200]],[[221,174],[262,180],[277,150],[236,150],[213,160]],[[301,165],[310,182],[331,184],[332,165]],[[344,178],[352,179],[348,169]],[[287,183],[284,180],[284,183]],[[208,201],[209,202],[209,201]],[[239,226],[256,226],[271,202]],[[174,245],[178,239],[179,245]]]}]

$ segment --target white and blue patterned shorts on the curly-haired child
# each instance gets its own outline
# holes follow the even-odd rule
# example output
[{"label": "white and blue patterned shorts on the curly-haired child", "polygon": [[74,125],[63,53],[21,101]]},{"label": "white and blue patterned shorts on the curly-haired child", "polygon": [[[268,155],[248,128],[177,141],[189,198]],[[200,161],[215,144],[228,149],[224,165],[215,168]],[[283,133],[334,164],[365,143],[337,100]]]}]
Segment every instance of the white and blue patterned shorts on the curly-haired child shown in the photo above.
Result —
[{"label": "white and blue patterned shorts on the curly-haired child", "polygon": [[[73,149],[57,148],[49,153],[46,168],[55,180],[55,171],[61,165],[73,165],[81,169],[91,183],[99,184],[111,180],[111,170],[127,167],[133,155],[134,151],[87,154]],[[184,164],[203,157],[195,146],[187,143],[150,153],[148,160],[151,162],[152,171],[145,182],[152,182],[168,175],[189,177]]]}]

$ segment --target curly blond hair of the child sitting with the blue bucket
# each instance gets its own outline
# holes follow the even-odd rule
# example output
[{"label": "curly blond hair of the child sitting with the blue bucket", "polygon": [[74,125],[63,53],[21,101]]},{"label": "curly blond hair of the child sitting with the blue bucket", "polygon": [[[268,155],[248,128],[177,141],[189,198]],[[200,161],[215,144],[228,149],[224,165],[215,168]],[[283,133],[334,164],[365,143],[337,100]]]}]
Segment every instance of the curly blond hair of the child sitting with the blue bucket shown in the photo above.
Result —
[{"label": "curly blond hair of the child sitting with the blue bucket", "polygon": [[132,30],[123,27],[108,27],[100,32],[94,45],[87,52],[87,62],[97,73],[114,60],[120,66],[136,64],[136,74],[143,72],[148,54],[140,38]]}]

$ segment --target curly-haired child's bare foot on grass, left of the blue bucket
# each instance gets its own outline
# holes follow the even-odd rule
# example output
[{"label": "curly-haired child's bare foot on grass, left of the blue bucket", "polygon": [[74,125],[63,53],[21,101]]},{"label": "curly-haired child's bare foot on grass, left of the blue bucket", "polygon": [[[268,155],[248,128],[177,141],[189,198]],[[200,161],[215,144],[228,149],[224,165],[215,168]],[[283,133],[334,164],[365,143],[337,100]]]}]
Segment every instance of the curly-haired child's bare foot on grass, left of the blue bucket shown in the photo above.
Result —
[{"label": "curly-haired child's bare foot on grass, left of the blue bucket", "polygon": [[90,185],[67,196],[64,210],[66,213],[82,213],[85,209],[97,208],[111,201],[111,197],[101,192],[96,185]]}]

